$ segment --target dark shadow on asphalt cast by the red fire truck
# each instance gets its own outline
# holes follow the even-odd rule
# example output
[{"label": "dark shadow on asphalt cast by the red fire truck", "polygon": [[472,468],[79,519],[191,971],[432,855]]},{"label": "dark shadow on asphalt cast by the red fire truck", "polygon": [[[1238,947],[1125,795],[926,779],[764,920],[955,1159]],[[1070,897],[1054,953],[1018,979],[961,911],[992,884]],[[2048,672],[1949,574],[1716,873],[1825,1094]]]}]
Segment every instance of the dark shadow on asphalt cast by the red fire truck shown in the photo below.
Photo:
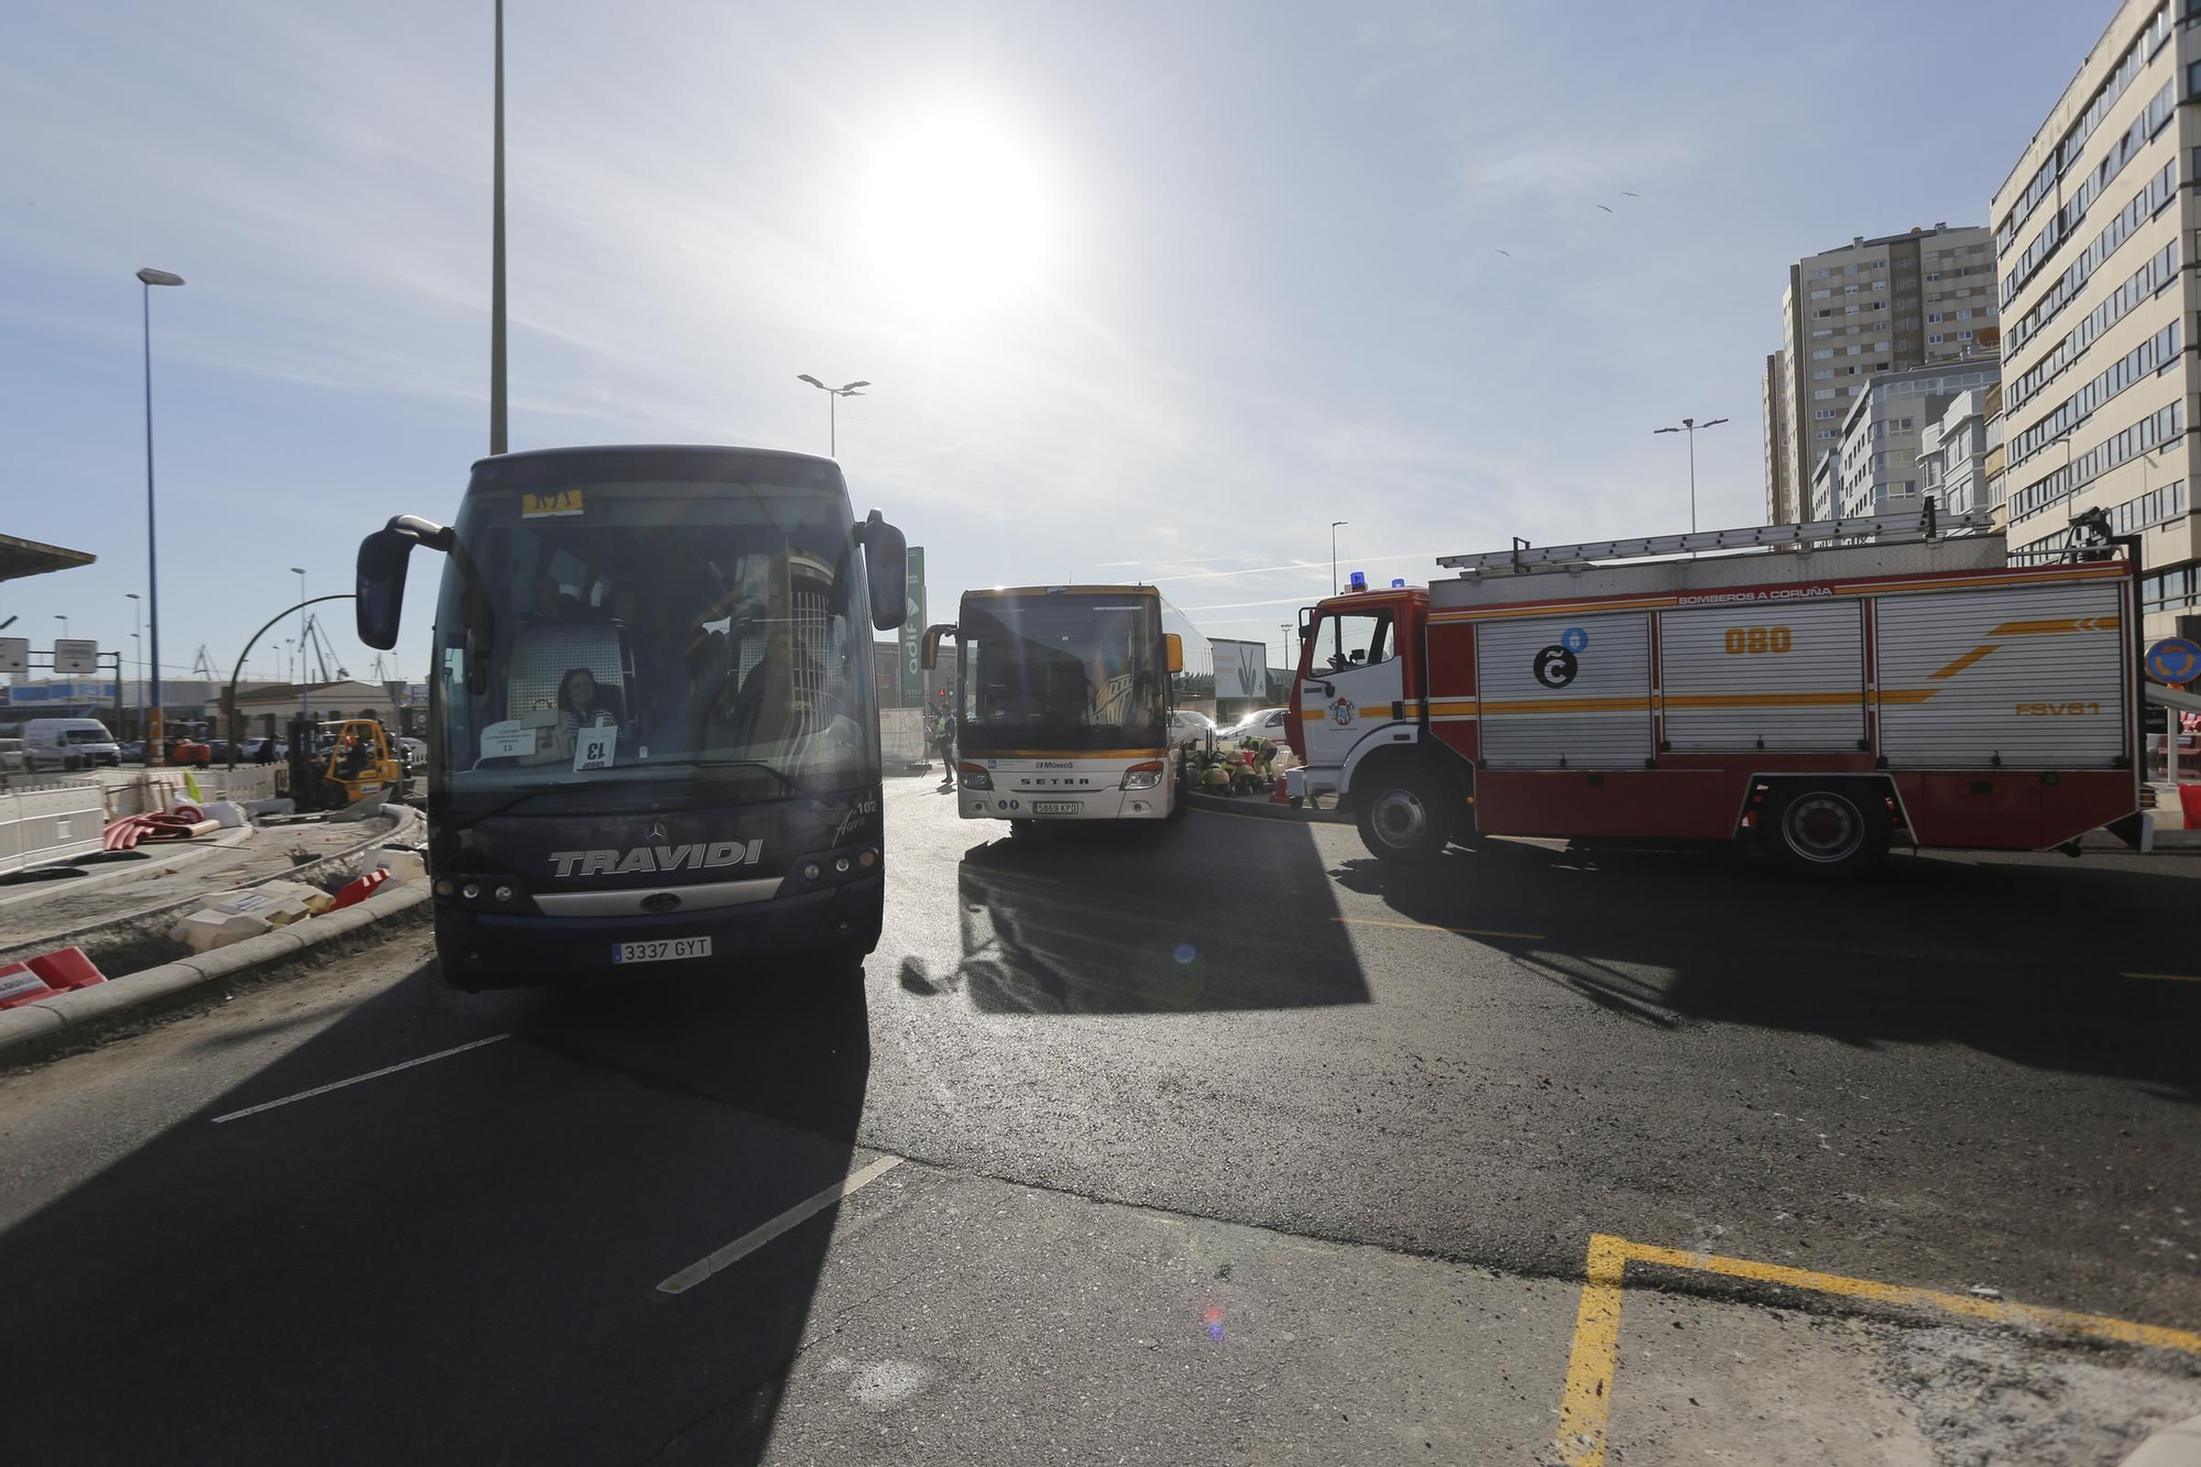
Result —
[{"label": "dark shadow on asphalt cast by the red fire truck", "polygon": [[2201,982],[2122,976],[2201,974],[2201,866],[2181,870],[1897,855],[1877,879],[1829,888],[1745,852],[1494,839],[1426,870],[1349,859],[1329,874],[1404,921],[1536,932],[1472,941],[1649,1029],[1965,1044],[2194,1101]]}]

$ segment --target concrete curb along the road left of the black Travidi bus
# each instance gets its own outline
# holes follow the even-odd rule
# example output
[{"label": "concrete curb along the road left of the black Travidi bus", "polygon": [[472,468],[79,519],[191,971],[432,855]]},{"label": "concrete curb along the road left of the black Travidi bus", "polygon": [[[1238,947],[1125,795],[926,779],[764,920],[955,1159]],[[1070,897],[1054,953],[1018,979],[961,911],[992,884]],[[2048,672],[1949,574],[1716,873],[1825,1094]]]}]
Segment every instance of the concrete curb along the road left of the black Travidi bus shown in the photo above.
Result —
[{"label": "concrete curb along the road left of the black Travidi bus", "polygon": [[163,1000],[174,1002],[218,978],[266,971],[365,927],[423,923],[427,921],[427,881],[407,881],[394,892],[368,896],[359,905],[330,912],[328,916],[310,916],[302,923],[231,943],[229,947],[147,967],[128,978],[112,978],[90,989],[75,989],[20,1009],[4,1009],[0,1011],[0,1068],[42,1060],[64,1046],[84,1042],[90,1037],[90,1031],[117,1015],[147,1009]]}]

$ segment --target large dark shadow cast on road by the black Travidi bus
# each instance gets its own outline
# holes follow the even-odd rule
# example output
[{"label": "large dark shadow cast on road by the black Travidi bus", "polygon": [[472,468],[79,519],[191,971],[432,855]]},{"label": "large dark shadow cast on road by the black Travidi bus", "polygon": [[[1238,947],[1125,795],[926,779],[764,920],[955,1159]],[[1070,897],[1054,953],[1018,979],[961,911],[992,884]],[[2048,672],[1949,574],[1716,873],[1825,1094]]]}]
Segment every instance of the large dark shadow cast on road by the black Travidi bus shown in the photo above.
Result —
[{"label": "large dark shadow cast on road by the black Travidi bus", "polygon": [[[852,1170],[863,991],[423,967],[7,1234],[15,1463],[755,1463]],[[513,1037],[229,1123],[213,1117]],[[396,1053],[392,1053],[396,1051]]]}]

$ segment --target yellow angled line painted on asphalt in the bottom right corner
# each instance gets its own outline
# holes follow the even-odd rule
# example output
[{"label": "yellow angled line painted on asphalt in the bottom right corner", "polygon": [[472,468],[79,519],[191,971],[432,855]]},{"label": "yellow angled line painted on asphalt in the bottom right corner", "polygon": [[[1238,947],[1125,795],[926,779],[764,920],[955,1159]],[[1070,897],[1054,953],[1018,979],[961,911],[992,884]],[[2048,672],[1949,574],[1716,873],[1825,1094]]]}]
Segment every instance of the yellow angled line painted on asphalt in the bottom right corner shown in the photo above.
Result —
[{"label": "yellow angled line painted on asphalt in the bottom right corner", "polygon": [[[2133,976],[2133,974],[2128,974]],[[2109,1315],[2082,1315],[2069,1308],[2043,1308],[2038,1304],[2010,1304],[2005,1300],[1981,1300],[1968,1293],[1941,1293],[1939,1289],[1913,1289],[1910,1284],[1882,1284],[1869,1278],[1844,1278],[1840,1273],[1814,1273],[1811,1269],[1789,1269],[1785,1264],[1752,1262],[1748,1258],[1721,1258],[1717,1253],[1686,1253],[1662,1249],[1649,1242],[1629,1242],[1613,1234],[1589,1236],[1589,1260],[1583,1278],[1583,1302],[1574,1319],[1574,1348],[1567,1355],[1567,1383],[1558,1403],[1558,1458],[1567,1467],[1605,1467],[1605,1430],[1613,1412],[1613,1372],[1620,1363],[1620,1302],[1627,1264],[1653,1264],[1662,1269],[1693,1269],[1697,1273],[1719,1273],[1756,1284],[1778,1284],[1783,1289],[1807,1289],[1873,1304],[1899,1308],[1937,1308],[1965,1319],[1988,1324],[2014,1324],[2058,1335],[2080,1335],[2087,1339],[2113,1339],[2117,1344],[2150,1346],[2157,1350],[2179,1350],[2201,1355],[2201,1333],[2175,1330],[2166,1324],[2139,1324],[2135,1319],[2113,1319]]]}]

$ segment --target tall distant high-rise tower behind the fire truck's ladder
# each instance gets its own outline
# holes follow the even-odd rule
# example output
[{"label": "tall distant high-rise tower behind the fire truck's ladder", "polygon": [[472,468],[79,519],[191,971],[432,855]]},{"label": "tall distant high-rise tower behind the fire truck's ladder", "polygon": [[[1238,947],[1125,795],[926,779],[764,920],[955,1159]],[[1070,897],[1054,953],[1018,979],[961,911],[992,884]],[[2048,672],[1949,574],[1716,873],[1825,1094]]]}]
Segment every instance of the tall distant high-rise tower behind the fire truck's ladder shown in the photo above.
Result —
[{"label": "tall distant high-rise tower behind the fire truck's ladder", "polygon": [[1968,225],[1864,236],[1789,267],[1765,359],[1765,520],[1807,518],[1818,460],[1875,372],[1994,346],[1994,238]]}]

